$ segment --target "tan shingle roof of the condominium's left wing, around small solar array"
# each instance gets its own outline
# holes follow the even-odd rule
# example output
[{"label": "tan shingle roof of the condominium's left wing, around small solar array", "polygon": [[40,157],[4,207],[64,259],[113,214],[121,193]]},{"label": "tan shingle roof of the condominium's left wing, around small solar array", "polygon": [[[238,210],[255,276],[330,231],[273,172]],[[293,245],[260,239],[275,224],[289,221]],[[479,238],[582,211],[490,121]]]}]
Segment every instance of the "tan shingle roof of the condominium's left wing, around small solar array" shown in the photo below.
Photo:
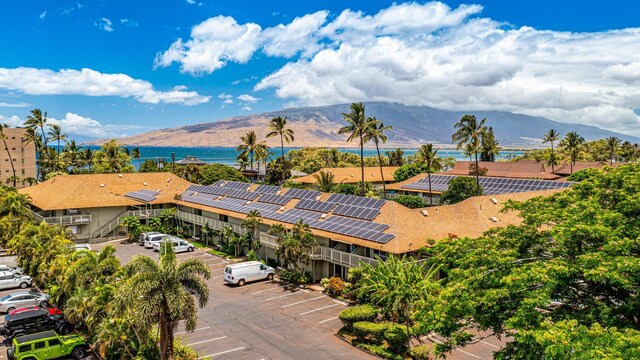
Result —
[{"label": "tan shingle roof of the condominium's left wing, around small solar array", "polygon": [[39,209],[60,210],[141,205],[124,196],[140,189],[160,191],[151,204],[172,203],[175,194],[181,194],[189,185],[188,181],[167,172],[86,174],[56,176],[19,191],[29,195]]}]

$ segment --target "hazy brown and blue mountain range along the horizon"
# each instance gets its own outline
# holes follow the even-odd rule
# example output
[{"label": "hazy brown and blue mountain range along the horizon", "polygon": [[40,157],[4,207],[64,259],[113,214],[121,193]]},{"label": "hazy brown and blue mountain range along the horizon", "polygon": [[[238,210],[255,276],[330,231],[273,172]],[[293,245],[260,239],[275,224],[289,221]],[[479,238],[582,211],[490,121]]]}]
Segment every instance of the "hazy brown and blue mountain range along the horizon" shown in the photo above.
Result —
[{"label": "hazy brown and blue mountain range along the horizon", "polygon": [[[397,103],[368,102],[366,116],[376,117],[391,125],[388,141],[384,147],[419,147],[425,143],[451,145],[453,125],[465,114],[486,118],[487,125],[493,127],[501,146],[540,146],[544,133],[553,128],[561,135],[576,131],[586,140],[617,136],[633,143],[640,138],[603,130],[594,126],[568,124],[543,117],[515,114],[504,111],[448,111],[427,106],[407,106]],[[288,108],[262,114],[243,115],[220,121],[179,126],[171,129],[154,130],[134,136],[117,139],[129,146],[223,146],[235,147],[240,136],[254,130],[259,139],[269,132],[269,121],[277,116],[287,117],[287,124],[295,132],[295,141],[289,146],[329,146],[355,147],[347,144],[345,136],[338,129],[345,125],[342,113],[349,112],[349,104]],[[109,139],[87,142],[99,145]],[[267,140],[270,146],[279,146],[279,138]]]}]

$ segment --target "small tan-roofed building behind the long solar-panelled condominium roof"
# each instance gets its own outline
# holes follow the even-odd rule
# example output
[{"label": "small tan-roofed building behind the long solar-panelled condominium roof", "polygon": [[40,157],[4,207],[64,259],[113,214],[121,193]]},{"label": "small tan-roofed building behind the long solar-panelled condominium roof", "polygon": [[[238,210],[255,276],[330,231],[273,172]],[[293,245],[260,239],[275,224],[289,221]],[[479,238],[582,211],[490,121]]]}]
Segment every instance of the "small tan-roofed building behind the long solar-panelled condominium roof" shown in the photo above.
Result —
[{"label": "small tan-roofed building behind the long solar-panelled condominium roof", "polygon": [[[387,184],[395,182],[394,173],[398,170],[397,166],[383,166],[382,173],[384,174],[384,182]],[[321,172],[333,174],[333,182],[336,184],[356,184],[362,181],[362,170],[359,167],[349,168],[324,168],[309,174],[293,179],[296,182],[302,183],[309,187],[312,187],[317,181],[314,175],[320,176]],[[371,183],[374,187],[382,186],[382,176],[380,175],[379,167],[365,167],[364,168],[364,181]]]}]

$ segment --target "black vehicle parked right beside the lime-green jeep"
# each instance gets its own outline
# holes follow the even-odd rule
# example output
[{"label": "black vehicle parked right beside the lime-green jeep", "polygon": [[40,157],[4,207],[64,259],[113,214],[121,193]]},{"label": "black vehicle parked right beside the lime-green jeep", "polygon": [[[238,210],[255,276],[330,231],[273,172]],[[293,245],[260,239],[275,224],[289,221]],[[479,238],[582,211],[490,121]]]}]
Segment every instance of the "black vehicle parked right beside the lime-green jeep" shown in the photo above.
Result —
[{"label": "black vehicle parked right beside the lime-green jeep", "polygon": [[73,331],[73,325],[62,316],[51,316],[46,310],[31,310],[4,317],[4,324],[0,325],[0,334],[12,340],[18,336],[55,330],[58,334],[66,335]]}]

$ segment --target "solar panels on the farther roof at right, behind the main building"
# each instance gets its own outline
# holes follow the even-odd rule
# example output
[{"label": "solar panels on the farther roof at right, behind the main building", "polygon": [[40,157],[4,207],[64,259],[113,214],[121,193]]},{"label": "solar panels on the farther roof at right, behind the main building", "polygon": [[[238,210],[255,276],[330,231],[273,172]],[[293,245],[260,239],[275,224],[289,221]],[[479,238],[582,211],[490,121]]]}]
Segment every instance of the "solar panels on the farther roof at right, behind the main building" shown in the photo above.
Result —
[{"label": "solar panels on the farther roof at right, behind the main building", "polygon": [[[431,191],[442,192],[449,188],[449,181],[458,176],[431,175]],[[493,177],[480,177],[480,185],[487,195],[508,194],[538,190],[564,189],[573,183],[570,181],[550,181],[532,179],[505,179]],[[425,177],[412,184],[407,184],[403,189],[429,190],[429,178]]]}]

